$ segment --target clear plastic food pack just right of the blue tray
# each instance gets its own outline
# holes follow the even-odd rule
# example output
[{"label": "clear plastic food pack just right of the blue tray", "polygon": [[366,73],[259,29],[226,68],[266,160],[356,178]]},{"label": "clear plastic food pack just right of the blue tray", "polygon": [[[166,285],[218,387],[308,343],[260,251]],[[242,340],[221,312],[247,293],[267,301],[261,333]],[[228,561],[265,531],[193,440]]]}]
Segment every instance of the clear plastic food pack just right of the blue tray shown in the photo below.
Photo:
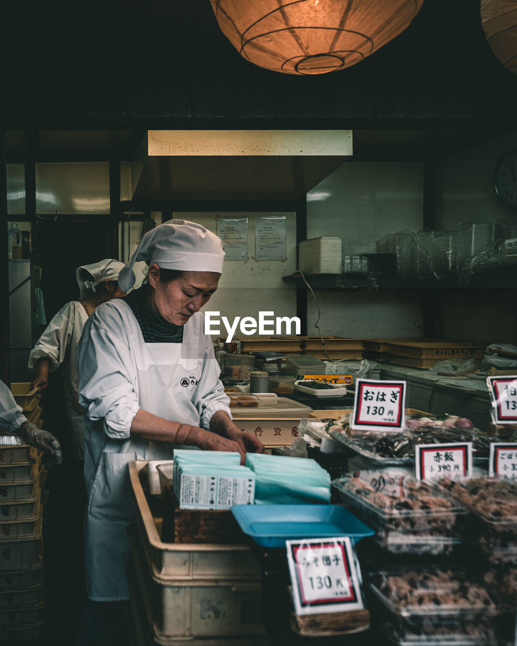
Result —
[{"label": "clear plastic food pack just right of the blue tray", "polygon": [[447,555],[461,542],[458,525],[467,512],[434,483],[403,471],[370,470],[334,480],[332,486],[392,554]]}]

